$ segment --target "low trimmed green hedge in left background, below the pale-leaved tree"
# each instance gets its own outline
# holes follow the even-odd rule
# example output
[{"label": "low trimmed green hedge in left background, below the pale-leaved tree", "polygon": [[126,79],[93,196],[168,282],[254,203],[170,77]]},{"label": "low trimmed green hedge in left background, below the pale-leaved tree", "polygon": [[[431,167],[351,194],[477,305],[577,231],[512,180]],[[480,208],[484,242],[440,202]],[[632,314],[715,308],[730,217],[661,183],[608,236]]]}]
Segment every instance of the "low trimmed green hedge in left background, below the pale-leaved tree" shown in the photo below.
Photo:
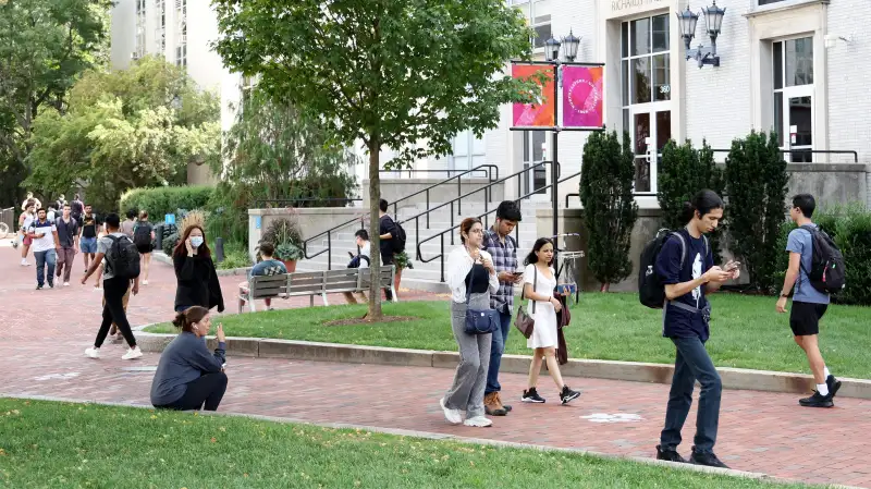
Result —
[{"label": "low trimmed green hedge in left background, below the pale-leaved tree", "polygon": [[119,209],[147,210],[151,222],[163,220],[168,213],[177,213],[179,209],[205,209],[214,187],[210,185],[165,186],[157,188],[134,188],[121,196]]}]

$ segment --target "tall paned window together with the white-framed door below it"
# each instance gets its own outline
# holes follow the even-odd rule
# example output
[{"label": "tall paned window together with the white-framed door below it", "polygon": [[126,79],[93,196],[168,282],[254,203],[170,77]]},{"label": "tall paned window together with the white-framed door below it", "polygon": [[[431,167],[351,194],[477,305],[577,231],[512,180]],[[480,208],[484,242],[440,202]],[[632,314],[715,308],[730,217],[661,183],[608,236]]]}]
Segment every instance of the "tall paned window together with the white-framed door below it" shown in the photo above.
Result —
[{"label": "tall paned window together with the white-framed door below it", "polygon": [[621,26],[623,130],[635,149],[636,192],[657,192],[657,162],[672,137],[668,29],[667,14]]}]

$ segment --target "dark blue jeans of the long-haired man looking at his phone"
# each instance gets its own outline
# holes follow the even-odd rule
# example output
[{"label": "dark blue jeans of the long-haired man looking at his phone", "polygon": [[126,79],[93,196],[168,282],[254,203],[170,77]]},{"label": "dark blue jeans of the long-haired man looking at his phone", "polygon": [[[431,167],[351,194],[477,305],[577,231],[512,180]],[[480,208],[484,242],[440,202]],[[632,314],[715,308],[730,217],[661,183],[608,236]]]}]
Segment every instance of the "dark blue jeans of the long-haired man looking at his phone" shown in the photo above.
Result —
[{"label": "dark blue jeans of the long-haired man looking at his phone", "polygon": [[700,453],[712,452],[720,426],[720,396],[723,391],[720,374],[699,338],[671,340],[677,347],[677,355],[674,360],[668,408],[665,412],[665,428],[660,437],[662,449],[675,450],[680,444],[680,429],[692,405],[692,389],[698,379],[701,383],[701,394],[696,418],[695,450]]}]

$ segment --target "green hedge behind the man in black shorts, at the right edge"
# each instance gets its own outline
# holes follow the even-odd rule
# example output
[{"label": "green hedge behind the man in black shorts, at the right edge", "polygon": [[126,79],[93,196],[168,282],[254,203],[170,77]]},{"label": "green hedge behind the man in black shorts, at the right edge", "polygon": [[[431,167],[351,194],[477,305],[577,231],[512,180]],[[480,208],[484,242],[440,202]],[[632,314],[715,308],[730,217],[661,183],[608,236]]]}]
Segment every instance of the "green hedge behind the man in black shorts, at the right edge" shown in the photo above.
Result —
[{"label": "green hedge behind the man in black shorts, at the right edge", "polygon": [[[844,254],[847,268],[847,286],[832,296],[838,304],[871,305],[871,210],[861,204],[833,206],[819,211],[813,222],[825,231]],[[787,221],[781,229],[777,259],[778,284],[783,283],[784,273],[789,265],[786,239],[796,225]]]}]

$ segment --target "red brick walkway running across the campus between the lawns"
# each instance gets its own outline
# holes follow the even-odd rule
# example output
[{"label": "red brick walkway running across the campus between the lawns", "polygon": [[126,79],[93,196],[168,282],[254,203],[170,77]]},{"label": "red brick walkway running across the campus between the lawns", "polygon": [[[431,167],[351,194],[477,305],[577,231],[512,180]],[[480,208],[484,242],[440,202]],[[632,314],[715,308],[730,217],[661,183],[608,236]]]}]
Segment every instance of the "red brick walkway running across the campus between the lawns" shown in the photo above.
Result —
[{"label": "red brick walkway running across the campus between the lawns", "polygon": [[[146,353],[139,360],[123,362],[125,346],[107,343],[102,359],[85,358],[83,351],[99,326],[100,294],[90,284],[77,283],[37,292],[33,267],[22,268],[19,261],[12,248],[0,246],[0,395],[147,404],[158,355]],[[81,261],[73,271],[81,277]],[[238,277],[221,280],[229,311],[235,311],[229,297],[238,281]],[[171,267],[155,262],[150,283],[131,299],[133,325],[171,317]],[[403,297],[436,296],[405,293]],[[307,298],[275,302],[278,307],[307,304]],[[636,456],[653,455],[668,393],[662,384],[569,378],[582,395],[571,406],[560,406],[554,402],[556,389],[542,375],[540,391],[548,403],[525,405],[518,402],[525,376],[503,375],[503,398],[514,412],[481,429],[444,423],[438,400],[453,375],[447,369],[231,357],[228,375],[224,412]],[[680,447],[686,456],[695,418],[694,407]],[[727,390],[716,452],[736,469],[871,488],[870,430],[871,401],[838,399],[837,407],[814,411],[799,407],[792,394]]]}]

